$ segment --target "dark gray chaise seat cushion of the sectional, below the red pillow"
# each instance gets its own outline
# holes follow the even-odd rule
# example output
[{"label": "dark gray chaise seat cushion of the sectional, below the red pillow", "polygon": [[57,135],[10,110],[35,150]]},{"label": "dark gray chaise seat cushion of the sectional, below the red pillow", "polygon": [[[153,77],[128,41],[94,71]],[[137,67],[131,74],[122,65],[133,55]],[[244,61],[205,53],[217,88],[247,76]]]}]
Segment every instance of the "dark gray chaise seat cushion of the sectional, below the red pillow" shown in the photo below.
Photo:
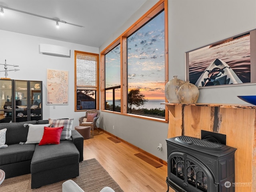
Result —
[{"label": "dark gray chaise seat cushion of the sectional, below the red pillow", "polygon": [[79,162],[79,151],[72,141],[60,144],[36,145],[31,161],[31,174]]}]

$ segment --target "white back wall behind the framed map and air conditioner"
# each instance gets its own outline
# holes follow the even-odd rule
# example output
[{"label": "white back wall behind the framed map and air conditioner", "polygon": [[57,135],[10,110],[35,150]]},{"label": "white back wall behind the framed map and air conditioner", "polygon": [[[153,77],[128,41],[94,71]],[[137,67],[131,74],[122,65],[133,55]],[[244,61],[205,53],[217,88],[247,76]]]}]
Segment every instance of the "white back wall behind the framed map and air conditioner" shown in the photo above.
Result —
[{"label": "white back wall behind the framed map and air conditioner", "polygon": [[[40,53],[41,43],[69,48],[70,58]],[[18,65],[20,69],[8,72],[8,78],[43,81],[43,119],[74,118],[73,128],[79,124],[78,118],[85,113],[74,112],[74,50],[99,52],[95,47],[0,30],[0,63],[4,64],[6,59],[7,64]],[[56,105],[56,109],[52,105],[46,105],[46,69],[68,71],[68,105]],[[0,77],[4,77],[4,72],[0,72]]]}]

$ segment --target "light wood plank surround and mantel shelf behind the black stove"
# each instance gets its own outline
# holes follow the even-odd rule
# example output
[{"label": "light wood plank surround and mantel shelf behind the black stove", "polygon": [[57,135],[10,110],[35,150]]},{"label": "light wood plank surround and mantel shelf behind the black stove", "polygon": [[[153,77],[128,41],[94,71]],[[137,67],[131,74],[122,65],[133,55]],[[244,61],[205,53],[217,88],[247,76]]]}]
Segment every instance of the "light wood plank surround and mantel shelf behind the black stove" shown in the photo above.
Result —
[{"label": "light wood plank surround and mantel shelf behind the black stove", "polygon": [[201,130],[226,135],[235,153],[236,192],[256,191],[256,106],[163,103],[169,110],[168,138],[201,138]]}]

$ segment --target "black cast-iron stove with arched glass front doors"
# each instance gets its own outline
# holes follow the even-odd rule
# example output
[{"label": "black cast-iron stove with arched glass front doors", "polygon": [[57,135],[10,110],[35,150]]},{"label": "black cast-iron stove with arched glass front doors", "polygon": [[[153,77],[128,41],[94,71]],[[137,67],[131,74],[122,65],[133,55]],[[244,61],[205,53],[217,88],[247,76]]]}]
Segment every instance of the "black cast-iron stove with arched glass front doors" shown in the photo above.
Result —
[{"label": "black cast-iron stove with arched glass front doors", "polygon": [[[236,148],[209,139],[166,139],[168,177],[176,192],[234,192]],[[215,140],[214,140],[215,141]]]}]

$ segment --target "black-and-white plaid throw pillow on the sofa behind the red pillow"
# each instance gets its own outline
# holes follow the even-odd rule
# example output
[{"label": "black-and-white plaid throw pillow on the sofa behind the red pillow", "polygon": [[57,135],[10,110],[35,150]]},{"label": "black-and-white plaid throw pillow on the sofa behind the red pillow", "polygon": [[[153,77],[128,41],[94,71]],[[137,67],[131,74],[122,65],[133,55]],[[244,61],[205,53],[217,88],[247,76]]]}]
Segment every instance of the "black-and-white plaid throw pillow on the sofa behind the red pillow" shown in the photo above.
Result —
[{"label": "black-and-white plaid throw pillow on the sofa behind the red pillow", "polygon": [[49,119],[50,127],[62,127],[63,131],[60,136],[60,140],[72,140],[71,129],[74,119]]}]

